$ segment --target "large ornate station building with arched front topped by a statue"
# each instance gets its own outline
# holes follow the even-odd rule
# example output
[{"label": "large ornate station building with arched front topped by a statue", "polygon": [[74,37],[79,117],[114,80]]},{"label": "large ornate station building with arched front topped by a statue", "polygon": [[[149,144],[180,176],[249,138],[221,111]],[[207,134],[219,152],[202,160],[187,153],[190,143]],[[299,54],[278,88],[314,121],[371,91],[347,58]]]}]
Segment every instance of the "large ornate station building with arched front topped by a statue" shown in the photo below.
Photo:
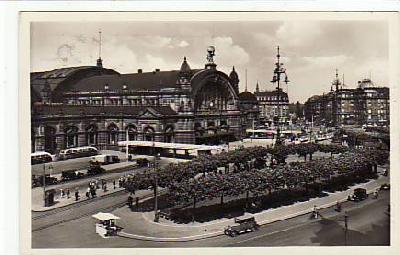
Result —
[{"label": "large ornate station building with arched front topped by a statue", "polygon": [[184,58],[179,70],[120,74],[99,58],[96,66],[31,73],[32,151],[239,139],[239,77],[217,70],[213,56],[210,47],[202,69]]}]

